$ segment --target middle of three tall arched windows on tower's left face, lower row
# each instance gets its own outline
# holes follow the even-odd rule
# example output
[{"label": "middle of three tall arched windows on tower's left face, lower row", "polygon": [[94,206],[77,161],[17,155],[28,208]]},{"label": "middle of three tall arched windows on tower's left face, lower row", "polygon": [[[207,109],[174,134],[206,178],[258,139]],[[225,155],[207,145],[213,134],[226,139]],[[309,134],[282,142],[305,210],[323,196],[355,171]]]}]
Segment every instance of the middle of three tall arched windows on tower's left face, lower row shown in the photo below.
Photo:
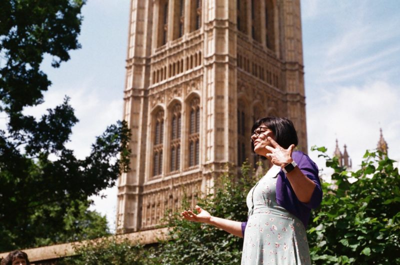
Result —
[{"label": "middle of three tall arched windows on tower's left face, lower row", "polygon": [[171,133],[170,133],[170,164],[169,170],[176,171],[180,168],[180,115],[181,105],[179,103],[172,107]]}]

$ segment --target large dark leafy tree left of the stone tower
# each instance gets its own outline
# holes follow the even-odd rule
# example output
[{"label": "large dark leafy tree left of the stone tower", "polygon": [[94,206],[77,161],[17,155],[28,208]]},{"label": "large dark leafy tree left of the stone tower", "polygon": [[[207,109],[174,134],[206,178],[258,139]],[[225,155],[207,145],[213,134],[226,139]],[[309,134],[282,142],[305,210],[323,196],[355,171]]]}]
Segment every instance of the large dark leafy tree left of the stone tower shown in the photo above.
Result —
[{"label": "large dark leafy tree left of the stone tower", "polygon": [[22,113],[42,103],[51,84],[40,70],[43,55],[58,67],[80,47],[84,2],[0,1],[0,112],[6,116],[0,130],[0,251],[107,232],[104,219],[87,211],[87,197],[128,169],[126,122],[108,126],[90,155],[77,159],[65,147],[78,121],[68,97],[39,119]]}]

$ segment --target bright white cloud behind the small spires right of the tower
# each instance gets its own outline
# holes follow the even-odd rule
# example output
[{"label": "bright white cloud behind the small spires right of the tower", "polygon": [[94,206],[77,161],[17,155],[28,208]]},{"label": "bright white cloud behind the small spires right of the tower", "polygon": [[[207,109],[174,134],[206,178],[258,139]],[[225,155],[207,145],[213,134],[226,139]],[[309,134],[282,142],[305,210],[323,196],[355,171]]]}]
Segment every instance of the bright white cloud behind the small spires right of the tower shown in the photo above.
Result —
[{"label": "bright white cloud behind the small spires right of the tower", "polygon": [[[324,92],[320,102],[307,106],[308,143],[325,145],[331,155],[337,138],[341,150],[347,145],[355,167],[366,149],[376,148],[381,127],[389,146],[389,157],[398,160],[398,98],[400,86],[384,81],[365,83],[362,87],[332,87]],[[319,166],[323,164],[316,158],[316,152],[310,152],[310,156],[319,161]]]}]

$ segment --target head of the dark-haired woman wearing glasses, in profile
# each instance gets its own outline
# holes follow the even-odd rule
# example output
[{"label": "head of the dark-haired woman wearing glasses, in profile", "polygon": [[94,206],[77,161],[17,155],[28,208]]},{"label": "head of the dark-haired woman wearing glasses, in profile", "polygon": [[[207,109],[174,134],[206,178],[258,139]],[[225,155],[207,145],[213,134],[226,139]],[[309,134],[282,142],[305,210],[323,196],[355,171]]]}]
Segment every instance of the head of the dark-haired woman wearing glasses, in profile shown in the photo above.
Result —
[{"label": "head of the dark-haired woman wearing glasses, in profile", "polygon": [[288,118],[263,117],[254,122],[251,127],[251,145],[255,153],[263,156],[266,154],[265,146],[271,145],[268,136],[285,149],[291,144],[298,144],[297,132]]}]

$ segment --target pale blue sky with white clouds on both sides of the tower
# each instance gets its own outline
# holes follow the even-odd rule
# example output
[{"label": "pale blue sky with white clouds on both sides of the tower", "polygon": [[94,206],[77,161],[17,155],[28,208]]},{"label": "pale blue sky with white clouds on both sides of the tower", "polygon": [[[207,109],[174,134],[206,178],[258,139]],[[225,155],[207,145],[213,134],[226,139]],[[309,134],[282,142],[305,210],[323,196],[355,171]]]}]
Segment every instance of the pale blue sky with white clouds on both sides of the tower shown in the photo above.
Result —
[{"label": "pale blue sky with white clouds on both sides of the tower", "polygon": [[[79,119],[67,143],[78,158],[89,154],[95,136],[122,118],[129,0],[88,0],[71,59],[42,69],[52,85],[45,102],[24,111],[39,117],[68,95]],[[397,0],[302,0],[301,19],[308,149],[335,139],[347,145],[353,167],[376,148],[379,128],[389,157],[400,160],[400,2]],[[319,167],[323,160],[309,152]],[[115,229],[116,187],[92,197],[95,209]]]}]

